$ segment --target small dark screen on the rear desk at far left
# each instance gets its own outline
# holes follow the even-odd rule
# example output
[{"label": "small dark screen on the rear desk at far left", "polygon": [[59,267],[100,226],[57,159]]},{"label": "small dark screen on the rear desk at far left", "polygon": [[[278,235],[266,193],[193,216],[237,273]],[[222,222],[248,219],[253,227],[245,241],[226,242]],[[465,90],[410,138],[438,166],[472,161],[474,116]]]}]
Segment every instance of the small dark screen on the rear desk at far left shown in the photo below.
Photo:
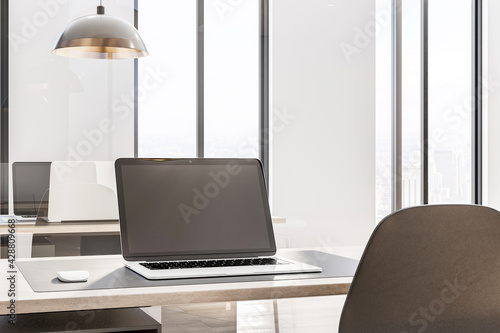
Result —
[{"label": "small dark screen on the rear desk at far left", "polygon": [[15,215],[37,215],[49,189],[50,162],[14,162],[12,186]]}]

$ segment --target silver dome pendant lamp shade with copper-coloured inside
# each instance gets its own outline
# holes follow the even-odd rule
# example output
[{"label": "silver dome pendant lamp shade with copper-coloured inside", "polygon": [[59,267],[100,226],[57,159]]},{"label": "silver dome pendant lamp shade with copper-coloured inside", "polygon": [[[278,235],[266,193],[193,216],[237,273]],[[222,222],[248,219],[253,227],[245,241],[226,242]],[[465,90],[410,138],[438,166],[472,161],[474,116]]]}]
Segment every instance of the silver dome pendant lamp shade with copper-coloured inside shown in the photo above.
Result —
[{"label": "silver dome pendant lamp shade with copper-coloured inside", "polygon": [[70,22],[52,53],[91,59],[133,59],[149,54],[134,26],[120,17],[103,14]]}]

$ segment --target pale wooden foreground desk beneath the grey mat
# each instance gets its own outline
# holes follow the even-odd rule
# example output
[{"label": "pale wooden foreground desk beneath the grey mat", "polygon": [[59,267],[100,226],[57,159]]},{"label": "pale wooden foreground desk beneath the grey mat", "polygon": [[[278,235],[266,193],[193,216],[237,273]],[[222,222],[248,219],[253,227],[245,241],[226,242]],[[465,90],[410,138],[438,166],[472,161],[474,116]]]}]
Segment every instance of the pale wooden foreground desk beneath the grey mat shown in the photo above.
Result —
[{"label": "pale wooden foreground desk beneath the grey mat", "polygon": [[[286,253],[288,250],[283,250]],[[95,256],[99,258],[116,256]],[[121,256],[120,256],[121,257]],[[89,257],[61,258],[59,260],[84,260]],[[36,258],[44,261],[54,258]],[[122,263],[117,262],[117,265]],[[107,268],[108,269],[108,268]],[[113,272],[116,267],[109,267]],[[7,260],[0,260],[0,315],[8,314],[10,298],[9,281],[5,278]],[[163,287],[121,288],[81,291],[34,292],[18,270],[16,275],[16,314],[77,311],[128,307],[147,307],[205,302],[230,302],[291,297],[311,297],[346,294],[352,278],[290,279],[282,281],[255,281],[213,283]]]}]

